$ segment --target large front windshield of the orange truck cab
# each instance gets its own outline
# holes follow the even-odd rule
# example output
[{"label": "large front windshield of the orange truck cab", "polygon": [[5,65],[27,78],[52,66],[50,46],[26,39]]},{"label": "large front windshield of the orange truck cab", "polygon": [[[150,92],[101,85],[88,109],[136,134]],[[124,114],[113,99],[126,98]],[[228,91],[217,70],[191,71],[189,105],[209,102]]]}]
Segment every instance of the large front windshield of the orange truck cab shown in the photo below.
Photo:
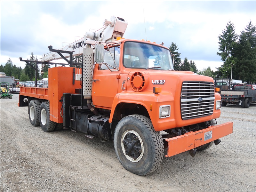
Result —
[{"label": "large front windshield of the orange truck cab", "polygon": [[168,49],[138,42],[125,42],[124,67],[173,70],[172,58]]}]

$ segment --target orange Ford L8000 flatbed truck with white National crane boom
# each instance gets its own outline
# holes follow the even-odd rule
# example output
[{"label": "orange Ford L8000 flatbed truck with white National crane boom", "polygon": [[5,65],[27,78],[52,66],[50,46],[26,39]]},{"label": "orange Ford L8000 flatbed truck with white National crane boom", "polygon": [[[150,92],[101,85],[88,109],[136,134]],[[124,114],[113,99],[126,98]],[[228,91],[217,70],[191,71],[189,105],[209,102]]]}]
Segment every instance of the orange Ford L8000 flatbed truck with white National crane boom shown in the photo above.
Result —
[{"label": "orange Ford L8000 flatbed truck with white National crane boom", "polygon": [[[174,71],[163,43],[124,39],[126,27],[112,16],[62,49],[49,46],[36,64],[62,66],[49,68],[48,87],[20,87],[18,106],[28,106],[33,126],[113,141],[120,163],[138,175],[156,170],[164,156],[194,157],[233,132],[233,122],[217,125],[221,97],[211,77]],[[77,55],[81,64],[72,60]],[[67,64],[51,62],[58,59]]]}]

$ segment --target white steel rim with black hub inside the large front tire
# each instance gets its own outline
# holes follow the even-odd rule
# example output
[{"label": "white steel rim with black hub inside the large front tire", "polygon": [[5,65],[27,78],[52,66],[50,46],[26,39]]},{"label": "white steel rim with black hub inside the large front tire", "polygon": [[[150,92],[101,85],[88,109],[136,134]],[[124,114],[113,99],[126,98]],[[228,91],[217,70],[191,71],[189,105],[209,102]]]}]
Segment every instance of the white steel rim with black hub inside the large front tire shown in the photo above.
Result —
[{"label": "white steel rim with black hub inside the large front tire", "polygon": [[144,145],[140,135],[133,131],[127,130],[123,133],[121,147],[124,156],[131,162],[138,162],[144,154]]}]

